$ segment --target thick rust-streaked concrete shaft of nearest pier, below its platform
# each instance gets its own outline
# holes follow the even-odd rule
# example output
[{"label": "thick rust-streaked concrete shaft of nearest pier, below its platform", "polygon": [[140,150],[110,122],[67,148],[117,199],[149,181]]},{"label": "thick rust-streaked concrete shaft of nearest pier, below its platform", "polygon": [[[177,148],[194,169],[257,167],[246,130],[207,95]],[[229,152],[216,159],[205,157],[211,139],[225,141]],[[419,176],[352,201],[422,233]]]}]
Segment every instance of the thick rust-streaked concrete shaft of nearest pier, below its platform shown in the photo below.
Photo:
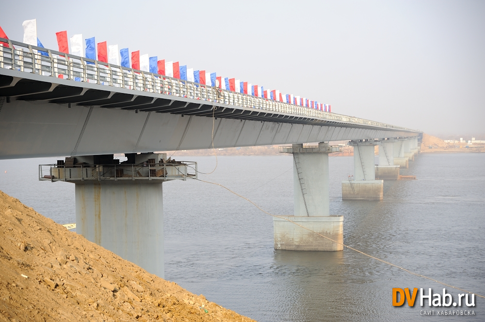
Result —
[{"label": "thick rust-streaked concrete shaft of nearest pier, below its platform", "polygon": [[162,183],[76,183],[76,231],[125,260],[164,277]]}]

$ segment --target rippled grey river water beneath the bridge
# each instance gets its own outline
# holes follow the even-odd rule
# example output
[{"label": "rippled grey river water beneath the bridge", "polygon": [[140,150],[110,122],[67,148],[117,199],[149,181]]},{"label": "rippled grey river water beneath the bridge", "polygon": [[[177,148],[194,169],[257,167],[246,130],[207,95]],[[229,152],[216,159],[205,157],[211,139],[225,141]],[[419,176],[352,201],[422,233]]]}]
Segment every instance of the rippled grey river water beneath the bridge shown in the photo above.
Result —
[{"label": "rippled grey river water beneath the bridge", "polygon": [[[183,159],[202,172],[215,166],[213,156]],[[55,160],[0,160],[0,190],[58,223],[74,222],[74,184],[37,181],[37,165]],[[383,201],[341,200],[353,157],[329,163],[330,212],[344,215],[346,245],[485,294],[485,154],[420,154],[401,170],[418,180],[385,181]],[[272,214],[293,213],[291,156],[220,156],[214,173],[199,179]],[[475,316],[437,316],[444,307],[420,307],[420,295],[414,307],[393,307],[392,288],[442,293],[443,286],[352,250],[275,250],[272,217],[219,186],[174,181],[163,194],[165,278],[258,321],[485,320],[479,297],[459,308]],[[463,293],[446,290],[453,300]],[[423,309],[435,315],[421,316]]]}]

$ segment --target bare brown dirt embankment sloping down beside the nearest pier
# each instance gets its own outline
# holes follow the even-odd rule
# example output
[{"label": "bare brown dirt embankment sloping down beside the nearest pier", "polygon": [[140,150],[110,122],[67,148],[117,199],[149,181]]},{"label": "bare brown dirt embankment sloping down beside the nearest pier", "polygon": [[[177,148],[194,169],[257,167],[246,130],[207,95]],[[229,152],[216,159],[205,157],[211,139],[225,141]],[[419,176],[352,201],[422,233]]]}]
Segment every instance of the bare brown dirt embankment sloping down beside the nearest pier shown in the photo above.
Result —
[{"label": "bare brown dirt embankment sloping down beside the nearest pier", "polygon": [[0,191],[0,321],[253,321]]}]

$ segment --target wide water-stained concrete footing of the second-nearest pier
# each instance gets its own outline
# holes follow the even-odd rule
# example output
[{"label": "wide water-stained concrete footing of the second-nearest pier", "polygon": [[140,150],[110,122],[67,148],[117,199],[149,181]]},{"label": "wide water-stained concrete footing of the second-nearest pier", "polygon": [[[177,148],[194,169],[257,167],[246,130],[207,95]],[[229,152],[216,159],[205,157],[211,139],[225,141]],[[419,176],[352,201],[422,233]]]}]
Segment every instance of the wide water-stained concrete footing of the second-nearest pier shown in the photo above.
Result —
[{"label": "wide water-stained concrete footing of the second-nearest pier", "polygon": [[[343,216],[280,216],[273,217],[275,249],[343,250]],[[297,225],[295,225],[297,224]],[[338,243],[306,230],[313,230]]]}]

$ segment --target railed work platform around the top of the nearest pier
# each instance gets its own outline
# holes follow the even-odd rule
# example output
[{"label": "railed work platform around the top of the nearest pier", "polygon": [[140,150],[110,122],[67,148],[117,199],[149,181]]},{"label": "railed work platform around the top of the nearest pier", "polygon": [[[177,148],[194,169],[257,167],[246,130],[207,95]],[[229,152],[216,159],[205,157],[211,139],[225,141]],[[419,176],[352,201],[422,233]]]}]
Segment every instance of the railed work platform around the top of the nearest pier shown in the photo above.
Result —
[{"label": "railed work platform around the top of the nearest pier", "polygon": [[85,180],[187,180],[197,179],[197,162],[177,161],[143,164],[39,165],[40,181]]}]

